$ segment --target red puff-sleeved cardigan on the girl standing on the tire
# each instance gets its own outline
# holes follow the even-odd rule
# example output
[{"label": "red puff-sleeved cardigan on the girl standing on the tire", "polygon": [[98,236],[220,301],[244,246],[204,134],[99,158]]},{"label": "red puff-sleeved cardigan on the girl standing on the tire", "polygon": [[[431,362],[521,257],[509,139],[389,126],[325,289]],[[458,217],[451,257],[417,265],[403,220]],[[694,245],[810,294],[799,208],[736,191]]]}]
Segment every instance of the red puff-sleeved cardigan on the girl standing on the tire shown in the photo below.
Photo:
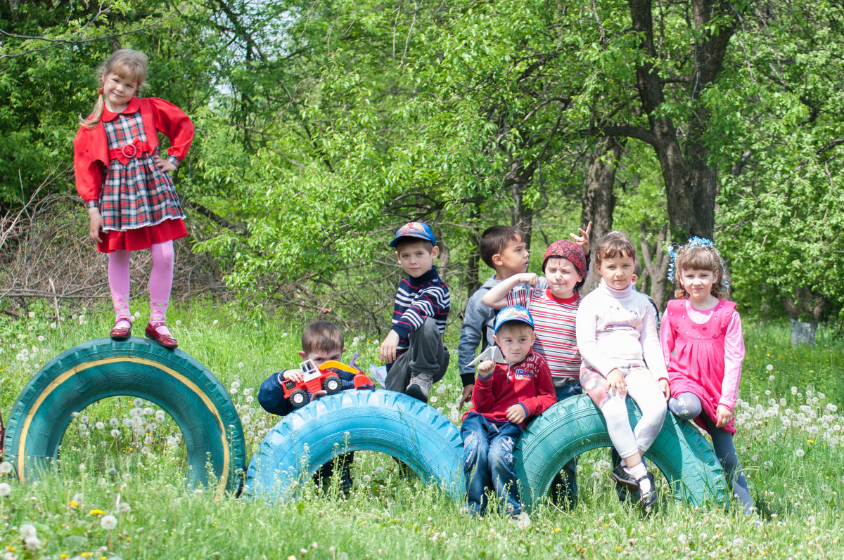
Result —
[{"label": "red puff-sleeved cardigan on the girl standing on the tire", "polygon": [[[158,132],[161,132],[170,138],[168,156],[173,156],[179,161],[185,159],[193,141],[193,123],[184,111],[169,101],[156,97],[133,97],[122,112],[133,113],[137,110],[141,111],[149,149],[154,150],[158,146]],[[107,114],[106,111],[104,118],[110,120]],[[149,131],[156,132],[150,134]],[[108,165],[108,139],[103,121],[98,122],[94,128],[79,127],[76,137],[73,138],[73,168],[76,173],[76,190],[85,202],[100,200]]]}]

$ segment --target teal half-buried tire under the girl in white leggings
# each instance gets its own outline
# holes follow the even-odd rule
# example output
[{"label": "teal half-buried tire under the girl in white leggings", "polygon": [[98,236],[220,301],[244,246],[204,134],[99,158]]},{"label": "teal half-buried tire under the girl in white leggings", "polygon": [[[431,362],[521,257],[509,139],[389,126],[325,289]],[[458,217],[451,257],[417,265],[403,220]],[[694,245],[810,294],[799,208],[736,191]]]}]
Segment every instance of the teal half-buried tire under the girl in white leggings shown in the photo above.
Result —
[{"label": "teal half-buried tire under the girl in white leggings", "polygon": [[[630,423],[641,417],[627,399]],[[555,474],[584,451],[609,447],[603,414],[586,395],[560,401],[528,424],[516,448],[516,474],[527,506],[547,496]],[[674,498],[693,505],[727,503],[721,463],[706,438],[691,423],[665,415],[665,423],[645,455],[663,472]],[[609,472],[607,473],[609,477]]]}]

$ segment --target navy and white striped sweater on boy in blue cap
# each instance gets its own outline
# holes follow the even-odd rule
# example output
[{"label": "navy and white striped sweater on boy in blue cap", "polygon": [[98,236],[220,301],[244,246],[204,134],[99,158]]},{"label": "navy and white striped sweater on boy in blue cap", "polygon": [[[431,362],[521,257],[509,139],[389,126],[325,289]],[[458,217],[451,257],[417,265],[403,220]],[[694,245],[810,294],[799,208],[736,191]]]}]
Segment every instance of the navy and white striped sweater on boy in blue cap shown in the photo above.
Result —
[{"label": "navy and white striped sweater on boy in blue cap", "polygon": [[396,356],[408,350],[410,333],[422,326],[428,317],[436,321],[442,334],[446,330],[451,304],[452,297],[439,272],[436,272],[436,266],[420,277],[402,278],[392,308],[391,328],[398,334]]}]

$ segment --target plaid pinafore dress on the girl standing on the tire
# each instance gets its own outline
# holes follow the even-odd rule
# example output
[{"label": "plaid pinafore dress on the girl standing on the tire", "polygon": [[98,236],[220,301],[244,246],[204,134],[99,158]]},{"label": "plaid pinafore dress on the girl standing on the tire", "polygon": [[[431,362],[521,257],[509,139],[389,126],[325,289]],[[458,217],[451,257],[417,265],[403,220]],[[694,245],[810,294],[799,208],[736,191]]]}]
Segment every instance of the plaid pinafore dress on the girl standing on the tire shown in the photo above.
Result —
[{"label": "plaid pinafore dress on the girl standing on the tire", "polygon": [[[109,149],[147,140],[139,110],[120,113],[111,121],[104,119],[103,126]],[[111,159],[100,193],[100,214],[106,233],[149,228],[165,220],[185,218],[172,177],[155,166],[150,153],[141,153],[126,164]]]}]

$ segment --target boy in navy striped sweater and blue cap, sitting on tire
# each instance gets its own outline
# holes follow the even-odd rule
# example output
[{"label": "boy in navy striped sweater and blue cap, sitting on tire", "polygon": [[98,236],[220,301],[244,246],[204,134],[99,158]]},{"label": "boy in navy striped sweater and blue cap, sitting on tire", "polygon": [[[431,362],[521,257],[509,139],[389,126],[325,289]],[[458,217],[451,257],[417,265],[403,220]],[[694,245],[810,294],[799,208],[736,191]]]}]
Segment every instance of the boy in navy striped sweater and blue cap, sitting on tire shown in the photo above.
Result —
[{"label": "boy in navy striped sweater and blue cap, sitting on tire", "polygon": [[434,264],[440,248],[421,222],[405,223],[390,246],[408,277],[398,283],[392,328],[378,349],[387,364],[385,387],[427,402],[430,386],[446,374],[449,359],[442,332],[451,295]]}]

